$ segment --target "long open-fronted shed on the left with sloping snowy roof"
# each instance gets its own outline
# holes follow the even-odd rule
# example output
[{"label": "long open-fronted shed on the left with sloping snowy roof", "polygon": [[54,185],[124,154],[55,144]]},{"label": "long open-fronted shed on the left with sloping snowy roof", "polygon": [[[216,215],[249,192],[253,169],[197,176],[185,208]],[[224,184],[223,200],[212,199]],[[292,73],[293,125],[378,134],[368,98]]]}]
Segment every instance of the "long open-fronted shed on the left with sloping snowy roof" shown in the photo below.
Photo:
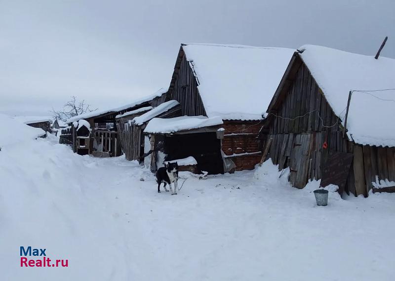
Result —
[{"label": "long open-fronted shed on the left with sloping snowy roof", "polygon": [[122,155],[118,137],[116,117],[140,108],[157,106],[164,102],[167,89],[159,89],[151,96],[135,100],[127,105],[107,110],[96,110],[67,120],[72,129],[73,151],[78,149],[78,122],[86,120],[90,124],[88,154],[97,157],[114,157]]}]

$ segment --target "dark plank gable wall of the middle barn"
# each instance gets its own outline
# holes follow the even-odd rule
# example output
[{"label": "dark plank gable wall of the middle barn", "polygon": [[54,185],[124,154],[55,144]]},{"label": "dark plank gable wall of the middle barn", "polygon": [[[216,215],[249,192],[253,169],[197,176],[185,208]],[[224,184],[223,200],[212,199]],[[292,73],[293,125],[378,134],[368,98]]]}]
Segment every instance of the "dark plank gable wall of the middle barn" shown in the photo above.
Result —
[{"label": "dark plank gable wall of the middle barn", "polygon": [[191,64],[182,56],[180,68],[176,75],[174,87],[169,89],[170,98],[181,104],[182,116],[206,116],[203,102],[197,90],[197,80],[191,69]]}]

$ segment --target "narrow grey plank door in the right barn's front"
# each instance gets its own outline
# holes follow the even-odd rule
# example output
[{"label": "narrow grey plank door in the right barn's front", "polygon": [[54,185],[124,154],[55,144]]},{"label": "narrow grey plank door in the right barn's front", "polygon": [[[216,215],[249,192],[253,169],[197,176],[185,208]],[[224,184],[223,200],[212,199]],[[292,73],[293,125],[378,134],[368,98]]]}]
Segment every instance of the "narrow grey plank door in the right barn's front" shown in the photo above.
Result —
[{"label": "narrow grey plank door in the right barn's front", "polygon": [[309,171],[311,134],[298,134],[295,136],[290,157],[291,175],[289,177],[292,186],[304,188],[307,183]]}]

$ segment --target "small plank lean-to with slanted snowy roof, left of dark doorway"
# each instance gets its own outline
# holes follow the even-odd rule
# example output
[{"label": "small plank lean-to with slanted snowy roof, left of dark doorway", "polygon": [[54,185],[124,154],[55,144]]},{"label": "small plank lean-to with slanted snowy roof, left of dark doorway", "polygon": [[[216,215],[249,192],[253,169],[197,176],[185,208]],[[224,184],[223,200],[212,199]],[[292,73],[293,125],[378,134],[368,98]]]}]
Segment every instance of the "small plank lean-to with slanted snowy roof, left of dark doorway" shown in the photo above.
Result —
[{"label": "small plank lean-to with slanted snowy roof, left of dark doorway", "polygon": [[155,117],[170,118],[180,116],[179,102],[170,100],[157,107],[142,107],[116,116],[118,135],[122,151],[129,161],[144,161],[144,134],[143,131],[151,119]]}]

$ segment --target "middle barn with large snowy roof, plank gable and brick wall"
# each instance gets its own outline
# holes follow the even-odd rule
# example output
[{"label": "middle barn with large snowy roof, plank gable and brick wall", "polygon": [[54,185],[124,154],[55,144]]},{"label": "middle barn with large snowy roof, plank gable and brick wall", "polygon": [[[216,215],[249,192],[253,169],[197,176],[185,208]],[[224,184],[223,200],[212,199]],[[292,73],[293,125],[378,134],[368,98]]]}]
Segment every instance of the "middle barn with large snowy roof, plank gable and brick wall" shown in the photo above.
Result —
[{"label": "middle barn with large snowy roof, plank gable and brick wall", "polygon": [[[269,104],[293,52],[285,48],[181,44],[168,99],[181,104],[181,116],[223,120],[222,139],[210,131],[213,147],[219,150],[214,158],[221,156],[220,167],[212,171],[253,169],[261,160],[261,105]],[[188,138],[183,141],[193,144],[197,137],[196,133],[183,134]]]}]

